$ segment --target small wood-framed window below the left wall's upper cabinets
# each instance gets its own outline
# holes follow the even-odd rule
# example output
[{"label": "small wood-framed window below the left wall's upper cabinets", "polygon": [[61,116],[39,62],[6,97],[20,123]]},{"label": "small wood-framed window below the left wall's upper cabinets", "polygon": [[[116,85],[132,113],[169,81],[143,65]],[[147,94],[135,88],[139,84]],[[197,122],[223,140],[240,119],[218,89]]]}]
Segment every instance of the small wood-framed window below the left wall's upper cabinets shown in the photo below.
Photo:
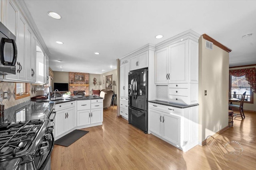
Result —
[{"label": "small wood-framed window below the left wall's upper cabinets", "polygon": [[30,96],[29,83],[15,83],[15,99],[21,99]]}]

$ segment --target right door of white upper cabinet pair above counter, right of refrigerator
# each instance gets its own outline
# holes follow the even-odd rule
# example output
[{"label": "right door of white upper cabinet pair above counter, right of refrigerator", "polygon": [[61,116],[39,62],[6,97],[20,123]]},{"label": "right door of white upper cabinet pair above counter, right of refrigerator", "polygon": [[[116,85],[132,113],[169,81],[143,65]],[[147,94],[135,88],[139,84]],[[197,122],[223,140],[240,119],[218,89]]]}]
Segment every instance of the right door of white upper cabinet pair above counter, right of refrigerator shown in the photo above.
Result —
[{"label": "right door of white upper cabinet pair above counter, right of refrigerator", "polygon": [[188,82],[188,40],[169,46],[169,83]]}]

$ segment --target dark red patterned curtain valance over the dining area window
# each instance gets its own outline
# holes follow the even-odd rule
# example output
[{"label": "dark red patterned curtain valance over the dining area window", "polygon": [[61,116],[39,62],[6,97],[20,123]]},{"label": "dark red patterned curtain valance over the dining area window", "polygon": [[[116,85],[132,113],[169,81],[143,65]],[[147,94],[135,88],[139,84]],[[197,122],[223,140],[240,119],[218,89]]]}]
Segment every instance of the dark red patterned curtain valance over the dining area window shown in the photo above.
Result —
[{"label": "dark red patterned curtain valance over the dining area window", "polygon": [[238,70],[229,70],[231,76],[241,77],[245,76],[248,84],[250,84],[252,91],[256,93],[256,69],[255,68],[244,68]]}]

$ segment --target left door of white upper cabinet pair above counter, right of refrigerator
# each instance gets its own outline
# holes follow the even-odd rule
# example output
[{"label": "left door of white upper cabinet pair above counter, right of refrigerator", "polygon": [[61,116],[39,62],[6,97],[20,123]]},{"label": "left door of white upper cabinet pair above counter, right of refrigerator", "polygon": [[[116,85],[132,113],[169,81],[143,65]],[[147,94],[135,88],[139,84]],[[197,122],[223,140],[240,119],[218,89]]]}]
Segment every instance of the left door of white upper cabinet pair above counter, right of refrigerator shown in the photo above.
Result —
[{"label": "left door of white upper cabinet pair above counter, right of refrigerator", "polygon": [[168,47],[155,51],[155,83],[168,83]]}]

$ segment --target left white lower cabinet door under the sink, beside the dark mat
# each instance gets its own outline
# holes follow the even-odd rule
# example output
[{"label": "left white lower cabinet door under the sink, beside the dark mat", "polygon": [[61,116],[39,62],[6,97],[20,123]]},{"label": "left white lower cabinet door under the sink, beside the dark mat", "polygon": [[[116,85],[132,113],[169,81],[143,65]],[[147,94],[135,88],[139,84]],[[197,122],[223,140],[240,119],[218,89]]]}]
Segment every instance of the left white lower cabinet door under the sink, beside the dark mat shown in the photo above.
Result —
[{"label": "left white lower cabinet door under the sink, beside the dark mat", "polygon": [[56,111],[55,117],[55,136],[58,137],[62,133],[66,132],[66,111]]}]

